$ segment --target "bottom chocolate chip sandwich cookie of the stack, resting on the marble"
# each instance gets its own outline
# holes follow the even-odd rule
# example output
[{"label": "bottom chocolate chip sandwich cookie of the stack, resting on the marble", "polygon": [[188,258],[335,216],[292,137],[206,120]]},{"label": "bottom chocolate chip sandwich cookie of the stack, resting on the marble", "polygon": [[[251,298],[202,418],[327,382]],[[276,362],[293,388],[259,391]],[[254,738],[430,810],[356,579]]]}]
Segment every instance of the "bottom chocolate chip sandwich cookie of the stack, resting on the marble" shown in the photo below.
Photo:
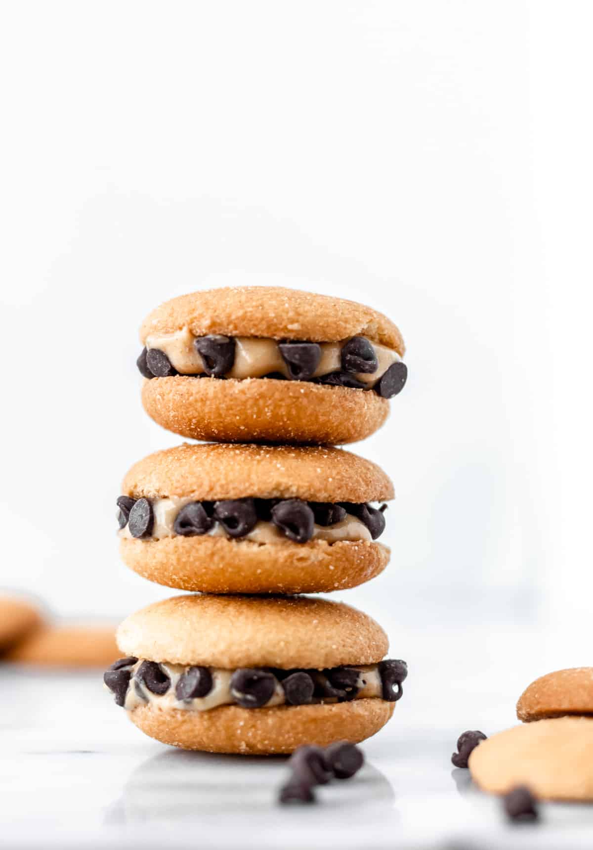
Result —
[{"label": "bottom chocolate chip sandwich cookie of the stack, resting on the marble", "polygon": [[104,683],[145,734],[186,750],[269,755],[357,743],[392,716],[407,675],[387,635],[307,597],[180,596],[117,630]]}]

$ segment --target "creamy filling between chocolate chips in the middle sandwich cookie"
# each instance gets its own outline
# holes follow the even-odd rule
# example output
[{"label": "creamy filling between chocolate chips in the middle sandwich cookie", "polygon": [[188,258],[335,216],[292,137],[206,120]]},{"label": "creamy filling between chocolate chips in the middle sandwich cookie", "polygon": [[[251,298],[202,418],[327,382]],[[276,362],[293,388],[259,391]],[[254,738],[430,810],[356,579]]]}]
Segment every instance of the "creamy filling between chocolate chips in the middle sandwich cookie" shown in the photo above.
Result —
[{"label": "creamy filling between chocolate chips in the middle sandwich cookie", "polygon": [[[143,538],[144,540],[162,540],[164,537],[176,537],[173,528],[175,518],[179,511],[189,502],[195,501],[193,498],[178,498],[171,496],[167,499],[155,499],[152,501],[152,510],[154,513],[154,524],[150,537]],[[119,532],[120,537],[127,540],[133,540],[134,537],[130,533],[129,525],[125,525]],[[212,529],[206,531],[206,535],[211,537],[226,537],[231,538],[224,530],[223,525],[215,522]],[[284,543],[291,544],[292,541],[285,536],[274,523],[266,522],[263,519],[257,521],[256,526],[245,536],[240,537],[240,540],[249,540],[253,543]],[[372,541],[370,531],[366,525],[357,517],[353,517],[351,513],[346,514],[346,519],[342,522],[333,525],[314,525],[312,540],[323,540],[327,543],[336,543],[338,541]],[[293,544],[294,545],[294,544]]]}]

